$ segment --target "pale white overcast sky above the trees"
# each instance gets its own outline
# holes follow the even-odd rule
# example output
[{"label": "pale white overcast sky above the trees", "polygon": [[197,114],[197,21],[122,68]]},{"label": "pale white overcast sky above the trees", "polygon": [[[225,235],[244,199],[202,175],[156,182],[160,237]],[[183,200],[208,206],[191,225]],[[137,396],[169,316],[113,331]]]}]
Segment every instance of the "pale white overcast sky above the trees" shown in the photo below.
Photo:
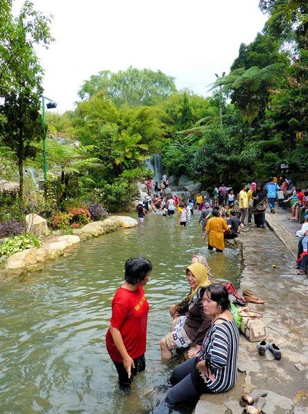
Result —
[{"label": "pale white overcast sky above the trees", "polygon": [[[180,90],[207,96],[228,73],[241,43],[262,31],[259,0],[32,0],[52,15],[55,42],[37,48],[44,95],[74,110],[78,89],[101,70],[160,69]],[[22,0],[14,1],[19,10]]]}]

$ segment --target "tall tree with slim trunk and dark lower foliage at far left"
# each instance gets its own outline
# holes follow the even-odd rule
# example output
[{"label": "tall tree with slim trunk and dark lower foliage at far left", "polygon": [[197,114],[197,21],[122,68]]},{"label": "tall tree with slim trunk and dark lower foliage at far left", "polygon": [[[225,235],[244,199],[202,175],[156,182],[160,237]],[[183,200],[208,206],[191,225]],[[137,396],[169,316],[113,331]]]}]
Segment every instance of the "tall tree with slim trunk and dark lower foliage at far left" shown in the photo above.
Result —
[{"label": "tall tree with slim trunk and dark lower foliage at far left", "polygon": [[[3,6],[3,9],[2,9]],[[53,41],[50,19],[33,10],[25,1],[17,18],[12,17],[11,1],[1,2],[0,25],[0,138],[17,154],[19,164],[19,204],[22,205],[23,163],[34,154],[31,142],[45,133],[40,117],[43,69],[33,49]]]}]

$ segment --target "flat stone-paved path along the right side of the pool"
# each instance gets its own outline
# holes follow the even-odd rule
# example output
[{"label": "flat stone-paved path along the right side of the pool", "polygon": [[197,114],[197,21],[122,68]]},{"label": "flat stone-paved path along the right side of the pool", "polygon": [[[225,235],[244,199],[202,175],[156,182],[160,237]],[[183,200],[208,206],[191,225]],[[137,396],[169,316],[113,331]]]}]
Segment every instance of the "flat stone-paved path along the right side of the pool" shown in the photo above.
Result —
[{"label": "flat stone-paved path along the right side of the pool", "polygon": [[239,291],[248,288],[266,301],[249,307],[264,313],[267,342],[280,347],[282,359],[275,361],[269,351],[259,356],[257,344],[241,334],[236,386],[221,395],[202,395],[195,414],[243,413],[239,399],[255,388],[268,390],[266,414],[308,413],[308,278],[293,268],[294,234],[301,226],[287,220],[289,215],[289,210],[267,214],[273,231],[253,228],[239,237],[245,265]]}]

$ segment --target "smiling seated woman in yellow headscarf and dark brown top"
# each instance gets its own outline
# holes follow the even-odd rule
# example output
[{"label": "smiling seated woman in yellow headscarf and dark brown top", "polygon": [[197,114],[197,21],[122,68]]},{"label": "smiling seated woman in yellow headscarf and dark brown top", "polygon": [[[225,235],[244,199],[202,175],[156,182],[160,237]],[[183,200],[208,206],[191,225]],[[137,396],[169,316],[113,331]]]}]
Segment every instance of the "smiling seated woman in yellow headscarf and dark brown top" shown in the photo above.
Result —
[{"label": "smiling seated woman in yellow headscarf and dark brown top", "polygon": [[[187,281],[191,287],[188,297],[187,315],[181,315],[173,321],[171,332],[160,341],[162,358],[172,358],[173,349],[185,349],[191,344],[196,344],[188,351],[189,356],[198,354],[205,333],[212,320],[203,312],[200,288],[211,284],[208,279],[207,269],[200,263],[193,263],[186,269]],[[185,309],[182,309],[182,313]]]}]

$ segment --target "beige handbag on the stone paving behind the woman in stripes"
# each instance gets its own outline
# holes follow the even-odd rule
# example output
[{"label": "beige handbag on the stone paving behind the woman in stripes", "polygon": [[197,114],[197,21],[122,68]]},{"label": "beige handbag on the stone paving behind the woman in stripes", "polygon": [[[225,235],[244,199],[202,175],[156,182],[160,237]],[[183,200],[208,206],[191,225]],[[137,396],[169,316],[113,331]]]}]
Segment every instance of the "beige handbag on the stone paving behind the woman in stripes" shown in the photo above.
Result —
[{"label": "beige handbag on the stone paving behind the woman in stripes", "polygon": [[250,342],[259,342],[267,338],[266,326],[262,320],[263,313],[243,308],[238,312],[241,316],[241,332]]}]

